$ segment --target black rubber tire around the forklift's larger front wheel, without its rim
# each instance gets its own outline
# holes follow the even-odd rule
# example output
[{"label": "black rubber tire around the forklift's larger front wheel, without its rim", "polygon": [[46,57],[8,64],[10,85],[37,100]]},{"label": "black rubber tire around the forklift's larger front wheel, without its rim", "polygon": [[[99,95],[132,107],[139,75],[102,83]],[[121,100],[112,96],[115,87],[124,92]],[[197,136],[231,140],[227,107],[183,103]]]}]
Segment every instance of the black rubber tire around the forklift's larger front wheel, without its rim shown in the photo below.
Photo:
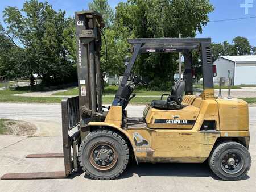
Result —
[{"label": "black rubber tire around the forklift's larger front wheel, without its rim", "polygon": [[[99,171],[89,161],[89,153],[93,145],[97,142],[109,142],[118,153],[118,159],[115,166],[108,171]],[[129,163],[129,147],[125,139],[116,132],[110,130],[92,131],[82,140],[79,147],[78,160],[82,170],[95,180],[112,180],[126,169]]]}]

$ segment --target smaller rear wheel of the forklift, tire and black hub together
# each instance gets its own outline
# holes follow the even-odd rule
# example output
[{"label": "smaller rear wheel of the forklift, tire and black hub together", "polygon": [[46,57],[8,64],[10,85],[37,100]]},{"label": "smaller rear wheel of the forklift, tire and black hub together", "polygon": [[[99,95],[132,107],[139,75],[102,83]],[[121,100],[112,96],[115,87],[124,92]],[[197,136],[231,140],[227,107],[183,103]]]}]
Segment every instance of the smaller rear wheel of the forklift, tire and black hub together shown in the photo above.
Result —
[{"label": "smaller rear wheel of the forklift, tire and black hub together", "polygon": [[227,141],[213,149],[208,162],[213,173],[222,180],[241,180],[250,169],[251,156],[242,144]]}]

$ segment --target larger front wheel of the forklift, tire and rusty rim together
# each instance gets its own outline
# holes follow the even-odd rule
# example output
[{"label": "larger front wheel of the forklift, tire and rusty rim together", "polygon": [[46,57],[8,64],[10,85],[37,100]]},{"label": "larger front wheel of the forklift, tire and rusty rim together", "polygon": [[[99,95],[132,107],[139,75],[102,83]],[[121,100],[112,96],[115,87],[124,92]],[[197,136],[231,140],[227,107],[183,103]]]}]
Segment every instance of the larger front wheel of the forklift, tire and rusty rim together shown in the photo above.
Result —
[{"label": "larger front wheel of the forklift, tire and rusty rim together", "polygon": [[126,169],[129,148],[125,139],[110,130],[89,133],[79,147],[79,162],[82,170],[96,180],[111,180]]}]

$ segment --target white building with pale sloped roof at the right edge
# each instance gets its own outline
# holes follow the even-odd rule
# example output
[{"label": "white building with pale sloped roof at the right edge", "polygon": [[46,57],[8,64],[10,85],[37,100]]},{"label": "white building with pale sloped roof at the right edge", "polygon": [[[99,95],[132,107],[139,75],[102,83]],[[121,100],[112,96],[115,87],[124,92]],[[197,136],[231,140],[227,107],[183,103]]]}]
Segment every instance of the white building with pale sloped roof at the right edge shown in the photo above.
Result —
[{"label": "white building with pale sloped roof at the right edge", "polygon": [[230,72],[233,85],[256,85],[256,55],[220,56],[213,65],[217,66],[214,84],[218,84],[220,77],[228,82]]}]

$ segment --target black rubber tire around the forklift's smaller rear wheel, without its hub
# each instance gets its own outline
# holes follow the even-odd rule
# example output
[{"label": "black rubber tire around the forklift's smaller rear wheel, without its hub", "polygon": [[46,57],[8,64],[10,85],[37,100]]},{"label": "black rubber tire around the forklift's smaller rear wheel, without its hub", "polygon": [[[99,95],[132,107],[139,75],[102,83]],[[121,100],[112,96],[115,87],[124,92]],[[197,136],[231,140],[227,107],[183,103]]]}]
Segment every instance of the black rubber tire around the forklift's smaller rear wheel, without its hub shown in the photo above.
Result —
[{"label": "black rubber tire around the forklift's smaller rear wheel, without its hub", "polygon": [[[226,152],[238,153],[243,159],[243,166],[238,173],[226,173],[221,167],[221,156]],[[240,143],[234,141],[226,141],[218,144],[208,158],[210,169],[219,178],[226,181],[241,180],[250,169],[251,156],[249,151]]]}]

